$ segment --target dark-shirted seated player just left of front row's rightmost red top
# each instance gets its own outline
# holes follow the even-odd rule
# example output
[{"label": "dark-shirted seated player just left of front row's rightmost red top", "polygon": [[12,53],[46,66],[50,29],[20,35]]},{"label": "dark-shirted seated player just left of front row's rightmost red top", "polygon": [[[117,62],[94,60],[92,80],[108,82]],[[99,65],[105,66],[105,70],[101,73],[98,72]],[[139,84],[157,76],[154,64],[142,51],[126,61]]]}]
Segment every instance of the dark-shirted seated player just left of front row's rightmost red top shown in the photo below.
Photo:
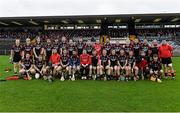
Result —
[{"label": "dark-shirted seated player just left of front row's rightmost red top", "polygon": [[139,76],[138,76],[139,69],[136,66],[136,59],[133,56],[133,51],[129,52],[127,65],[128,65],[128,67],[127,67],[128,68],[128,73],[126,75],[126,81],[128,81],[128,79],[131,79],[132,76],[133,76],[134,81],[138,80],[139,79]]}]

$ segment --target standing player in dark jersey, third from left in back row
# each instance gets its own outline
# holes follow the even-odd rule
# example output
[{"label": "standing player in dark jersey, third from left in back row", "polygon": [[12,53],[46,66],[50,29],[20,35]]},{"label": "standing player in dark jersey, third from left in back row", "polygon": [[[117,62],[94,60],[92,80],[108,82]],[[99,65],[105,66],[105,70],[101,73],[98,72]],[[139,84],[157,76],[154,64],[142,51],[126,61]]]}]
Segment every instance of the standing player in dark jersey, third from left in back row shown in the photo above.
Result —
[{"label": "standing player in dark jersey, third from left in back row", "polygon": [[33,48],[33,54],[34,54],[35,59],[38,59],[39,55],[43,54],[44,48],[42,47],[42,45],[40,43],[41,40],[39,37],[36,39],[36,41],[37,41],[37,43]]}]

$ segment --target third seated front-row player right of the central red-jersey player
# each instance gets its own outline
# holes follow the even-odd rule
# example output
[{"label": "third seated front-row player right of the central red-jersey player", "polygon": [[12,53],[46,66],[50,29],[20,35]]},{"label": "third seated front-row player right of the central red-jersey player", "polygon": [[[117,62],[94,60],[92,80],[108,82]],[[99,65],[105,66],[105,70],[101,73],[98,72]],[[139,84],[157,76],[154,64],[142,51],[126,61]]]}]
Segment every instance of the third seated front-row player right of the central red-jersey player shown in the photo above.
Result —
[{"label": "third seated front-row player right of the central red-jersey player", "polygon": [[111,55],[109,56],[109,61],[110,61],[110,71],[111,71],[111,78],[116,78],[118,75],[118,57],[116,55],[115,50],[113,49],[111,51]]}]

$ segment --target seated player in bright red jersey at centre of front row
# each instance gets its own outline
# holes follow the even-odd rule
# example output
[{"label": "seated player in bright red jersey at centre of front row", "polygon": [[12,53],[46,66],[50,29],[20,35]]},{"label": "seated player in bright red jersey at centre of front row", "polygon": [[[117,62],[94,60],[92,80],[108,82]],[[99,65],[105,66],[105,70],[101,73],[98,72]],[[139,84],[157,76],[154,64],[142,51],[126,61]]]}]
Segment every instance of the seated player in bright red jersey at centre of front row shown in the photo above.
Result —
[{"label": "seated player in bright red jersey at centre of front row", "polygon": [[86,50],[83,50],[83,54],[80,55],[80,64],[81,64],[81,75],[82,79],[87,79],[89,77],[89,66],[91,64],[91,57],[87,54]]}]

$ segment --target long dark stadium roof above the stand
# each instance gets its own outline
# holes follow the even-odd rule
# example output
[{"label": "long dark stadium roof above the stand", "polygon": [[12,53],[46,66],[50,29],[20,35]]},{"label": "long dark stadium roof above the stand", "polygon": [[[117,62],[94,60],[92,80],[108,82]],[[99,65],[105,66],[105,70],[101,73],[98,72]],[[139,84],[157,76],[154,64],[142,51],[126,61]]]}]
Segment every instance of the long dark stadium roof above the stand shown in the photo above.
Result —
[{"label": "long dark stadium roof above the stand", "polygon": [[0,26],[42,26],[44,24],[100,24],[104,18],[109,23],[180,23],[180,13],[169,14],[123,14],[123,15],[76,15],[0,17]]}]

